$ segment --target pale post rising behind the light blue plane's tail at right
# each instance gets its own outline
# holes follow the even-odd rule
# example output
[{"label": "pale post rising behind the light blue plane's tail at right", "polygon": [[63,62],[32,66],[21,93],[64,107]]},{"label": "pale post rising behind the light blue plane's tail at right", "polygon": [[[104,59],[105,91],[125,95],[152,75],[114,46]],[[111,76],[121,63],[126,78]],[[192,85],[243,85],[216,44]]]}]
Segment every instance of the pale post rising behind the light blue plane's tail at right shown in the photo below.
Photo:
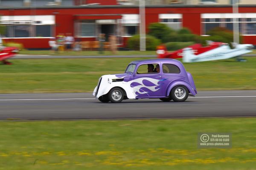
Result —
[{"label": "pale post rising behind the light blue plane's tail at right", "polygon": [[238,0],[232,0],[233,4],[233,41],[239,44],[239,19],[236,14],[239,13]]}]

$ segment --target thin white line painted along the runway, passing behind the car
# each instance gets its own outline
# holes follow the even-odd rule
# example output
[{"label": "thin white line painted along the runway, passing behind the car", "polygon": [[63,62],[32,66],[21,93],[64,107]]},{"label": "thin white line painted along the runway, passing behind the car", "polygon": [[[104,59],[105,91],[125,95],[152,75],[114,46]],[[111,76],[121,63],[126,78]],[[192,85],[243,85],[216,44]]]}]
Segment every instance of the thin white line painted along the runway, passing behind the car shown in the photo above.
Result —
[{"label": "thin white line painted along the runway, passing behind the car", "polygon": [[[256,96],[202,96],[189,98],[224,98],[224,97],[256,97]],[[74,98],[74,99],[0,99],[0,101],[19,101],[19,100],[92,100],[96,98]],[[156,98],[157,99],[157,98]]]}]

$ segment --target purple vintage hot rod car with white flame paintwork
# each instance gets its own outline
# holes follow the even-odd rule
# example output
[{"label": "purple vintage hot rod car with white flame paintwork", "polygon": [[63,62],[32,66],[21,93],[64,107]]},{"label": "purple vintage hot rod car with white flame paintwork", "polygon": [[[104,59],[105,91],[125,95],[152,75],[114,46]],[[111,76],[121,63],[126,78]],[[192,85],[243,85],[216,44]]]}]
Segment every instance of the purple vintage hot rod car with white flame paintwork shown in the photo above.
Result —
[{"label": "purple vintage hot rod car with white flame paintwork", "polygon": [[99,78],[93,96],[101,102],[158,98],[184,102],[197,94],[192,75],[175,59],[147,59],[131,62],[124,74]]}]

